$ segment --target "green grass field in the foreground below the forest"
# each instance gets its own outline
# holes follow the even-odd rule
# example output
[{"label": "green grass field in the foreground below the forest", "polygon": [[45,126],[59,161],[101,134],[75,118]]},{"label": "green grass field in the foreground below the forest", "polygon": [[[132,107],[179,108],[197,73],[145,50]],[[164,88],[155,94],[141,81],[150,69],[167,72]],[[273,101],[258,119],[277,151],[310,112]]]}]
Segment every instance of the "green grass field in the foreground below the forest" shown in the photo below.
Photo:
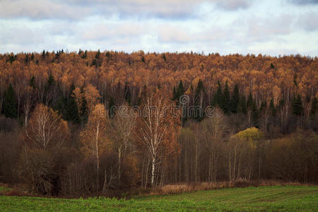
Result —
[{"label": "green grass field in the foreground below the forest", "polygon": [[129,200],[0,196],[0,211],[318,211],[318,187],[247,187]]}]

